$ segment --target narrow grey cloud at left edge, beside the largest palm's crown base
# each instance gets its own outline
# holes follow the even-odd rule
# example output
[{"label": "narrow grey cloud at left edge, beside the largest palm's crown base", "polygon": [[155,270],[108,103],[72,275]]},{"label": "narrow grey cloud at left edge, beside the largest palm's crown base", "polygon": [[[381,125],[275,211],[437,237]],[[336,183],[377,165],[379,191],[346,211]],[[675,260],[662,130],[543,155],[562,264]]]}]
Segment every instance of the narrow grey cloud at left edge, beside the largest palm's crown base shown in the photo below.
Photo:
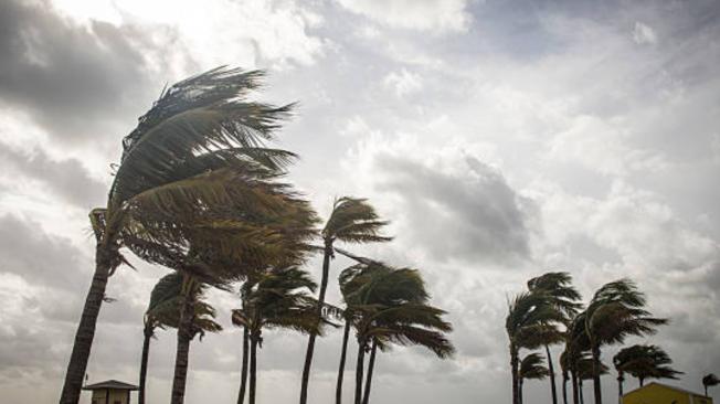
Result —
[{"label": "narrow grey cloud at left edge, beside the largest palm's crown base", "polygon": [[91,209],[103,203],[106,187],[92,178],[75,159],[52,160],[41,149],[25,156],[0,145],[0,160],[6,170],[17,170],[22,177],[40,181],[43,189],[61,196],[67,203]]}]

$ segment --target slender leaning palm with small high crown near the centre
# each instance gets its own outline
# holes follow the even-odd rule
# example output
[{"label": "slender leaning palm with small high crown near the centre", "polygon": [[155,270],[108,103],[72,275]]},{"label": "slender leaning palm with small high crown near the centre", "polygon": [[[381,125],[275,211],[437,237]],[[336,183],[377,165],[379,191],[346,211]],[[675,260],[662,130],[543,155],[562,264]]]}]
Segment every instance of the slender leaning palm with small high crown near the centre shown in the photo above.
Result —
[{"label": "slender leaning palm with small high crown near the centre", "polygon": [[[383,236],[381,231],[388,224],[380,220],[374,208],[366,199],[342,196],[332,204],[332,212],[325,227],[321,231],[324,242],[322,277],[320,278],[320,291],[318,296],[318,322],[321,318],[322,306],[325,305],[325,293],[328,287],[330,274],[330,259],[333,257],[333,244],[336,241],[346,243],[371,243],[389,242],[392,237]],[[310,381],[313,355],[315,352],[315,333],[310,333],[305,353],[305,365],[300,385],[300,404],[307,404],[307,391]]]}]

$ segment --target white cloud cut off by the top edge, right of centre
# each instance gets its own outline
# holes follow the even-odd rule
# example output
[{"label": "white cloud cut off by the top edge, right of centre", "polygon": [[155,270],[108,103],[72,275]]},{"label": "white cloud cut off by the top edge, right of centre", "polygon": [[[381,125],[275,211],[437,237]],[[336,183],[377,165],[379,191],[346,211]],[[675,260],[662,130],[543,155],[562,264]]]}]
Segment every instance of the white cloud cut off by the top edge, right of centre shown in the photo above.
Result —
[{"label": "white cloud cut off by the top edge, right of centre", "polygon": [[339,0],[348,10],[392,28],[465,31],[472,15],[466,0]]}]

